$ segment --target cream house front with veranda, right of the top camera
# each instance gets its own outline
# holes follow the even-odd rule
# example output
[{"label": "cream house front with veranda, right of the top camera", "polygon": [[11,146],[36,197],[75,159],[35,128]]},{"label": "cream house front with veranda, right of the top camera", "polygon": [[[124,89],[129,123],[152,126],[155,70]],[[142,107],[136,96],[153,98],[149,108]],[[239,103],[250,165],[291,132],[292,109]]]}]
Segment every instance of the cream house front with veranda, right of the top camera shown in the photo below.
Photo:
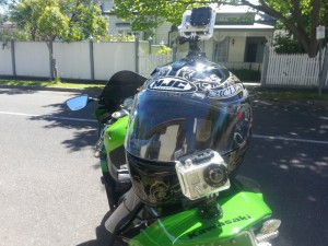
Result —
[{"label": "cream house front with veranda, right of the top camera", "polygon": [[[265,46],[271,43],[274,20],[247,7],[221,5],[216,10],[213,37],[203,42],[209,59],[220,63],[261,63]],[[174,40],[171,40],[174,42]],[[187,54],[188,47],[178,47]]]}]

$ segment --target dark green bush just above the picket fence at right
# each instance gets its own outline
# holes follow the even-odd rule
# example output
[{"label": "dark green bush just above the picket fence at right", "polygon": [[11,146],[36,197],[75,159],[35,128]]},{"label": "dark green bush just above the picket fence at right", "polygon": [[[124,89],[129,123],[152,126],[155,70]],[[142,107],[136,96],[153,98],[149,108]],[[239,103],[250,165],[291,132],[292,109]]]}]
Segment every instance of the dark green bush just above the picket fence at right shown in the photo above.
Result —
[{"label": "dark green bush just above the picket fence at right", "polygon": [[291,35],[277,35],[273,47],[278,54],[304,54],[303,47],[298,40],[295,40]]}]

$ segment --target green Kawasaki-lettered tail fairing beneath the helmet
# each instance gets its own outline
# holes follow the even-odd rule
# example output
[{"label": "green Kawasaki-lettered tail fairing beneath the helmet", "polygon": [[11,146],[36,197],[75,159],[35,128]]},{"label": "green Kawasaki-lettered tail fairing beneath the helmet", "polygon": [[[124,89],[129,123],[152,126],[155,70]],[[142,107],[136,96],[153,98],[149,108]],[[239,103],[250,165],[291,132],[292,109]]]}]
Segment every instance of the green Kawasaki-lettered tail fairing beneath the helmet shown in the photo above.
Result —
[{"label": "green Kawasaki-lettered tail fairing beneath the helmet", "polygon": [[187,210],[159,219],[132,238],[129,245],[213,245],[236,237],[272,213],[262,195],[257,192],[241,191],[218,201],[223,209],[220,220],[201,222],[197,209]]}]

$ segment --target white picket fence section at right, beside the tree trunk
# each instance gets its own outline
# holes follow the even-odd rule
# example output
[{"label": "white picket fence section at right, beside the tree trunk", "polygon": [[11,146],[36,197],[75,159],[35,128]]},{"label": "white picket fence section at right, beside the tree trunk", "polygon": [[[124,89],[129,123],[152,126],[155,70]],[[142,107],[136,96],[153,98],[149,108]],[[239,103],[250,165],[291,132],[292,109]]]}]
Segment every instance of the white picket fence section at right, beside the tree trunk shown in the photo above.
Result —
[{"label": "white picket fence section at right, beside the tree trunk", "polygon": [[[319,54],[315,58],[306,54],[278,55],[271,47],[266,47],[261,85],[314,87],[318,86],[318,74]],[[327,79],[324,86],[328,86]]]}]

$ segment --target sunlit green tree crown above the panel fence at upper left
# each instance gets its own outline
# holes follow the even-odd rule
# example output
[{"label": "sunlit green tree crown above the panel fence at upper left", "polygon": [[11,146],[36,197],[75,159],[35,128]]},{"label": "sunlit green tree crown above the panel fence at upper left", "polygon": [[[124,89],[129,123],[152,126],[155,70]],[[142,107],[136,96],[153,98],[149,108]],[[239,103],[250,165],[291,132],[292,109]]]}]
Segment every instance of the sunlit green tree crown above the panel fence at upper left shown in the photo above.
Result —
[{"label": "sunlit green tree crown above the panel fence at upper left", "polygon": [[[68,34],[60,33],[54,39],[82,40],[91,35],[94,38],[106,35],[107,21],[101,14],[99,8],[91,0],[23,0],[10,8],[10,16],[22,31],[31,34],[32,40],[44,40],[45,35],[39,33],[39,19],[47,7],[54,7],[57,16],[60,12],[68,23]],[[52,9],[54,12],[54,9]],[[48,17],[52,16],[48,13]],[[52,16],[54,17],[54,16]],[[45,15],[43,16],[45,21]],[[48,27],[51,27],[48,25]],[[45,31],[43,31],[43,34]]]}]

